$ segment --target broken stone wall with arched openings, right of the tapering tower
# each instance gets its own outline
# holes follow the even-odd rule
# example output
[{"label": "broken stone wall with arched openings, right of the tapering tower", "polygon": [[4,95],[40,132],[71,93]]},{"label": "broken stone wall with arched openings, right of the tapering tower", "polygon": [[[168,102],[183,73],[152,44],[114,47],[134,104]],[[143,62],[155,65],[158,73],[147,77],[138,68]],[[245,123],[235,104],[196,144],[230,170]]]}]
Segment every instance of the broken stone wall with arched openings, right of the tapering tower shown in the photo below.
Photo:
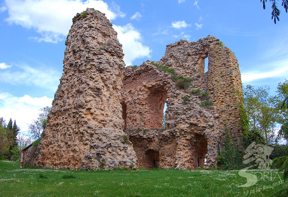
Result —
[{"label": "broken stone wall with arched openings, right of the tapering tower", "polygon": [[[242,91],[241,75],[234,53],[217,43],[219,39],[213,36],[192,43],[180,40],[167,45],[165,55],[156,62],[173,68],[176,76],[190,78],[189,88],[177,87],[171,74],[150,61],[137,68],[126,67],[121,103],[125,132],[133,143],[138,166],[195,169],[198,158],[206,154],[207,165],[213,166],[218,141],[223,145],[225,124],[233,137],[240,137],[236,104],[240,102],[237,92]],[[208,55],[208,72],[204,73]],[[209,98],[190,93],[198,88],[209,92]],[[185,97],[189,100],[184,101]],[[210,109],[199,106],[204,99],[213,101]],[[161,132],[165,102],[166,130]]]}]

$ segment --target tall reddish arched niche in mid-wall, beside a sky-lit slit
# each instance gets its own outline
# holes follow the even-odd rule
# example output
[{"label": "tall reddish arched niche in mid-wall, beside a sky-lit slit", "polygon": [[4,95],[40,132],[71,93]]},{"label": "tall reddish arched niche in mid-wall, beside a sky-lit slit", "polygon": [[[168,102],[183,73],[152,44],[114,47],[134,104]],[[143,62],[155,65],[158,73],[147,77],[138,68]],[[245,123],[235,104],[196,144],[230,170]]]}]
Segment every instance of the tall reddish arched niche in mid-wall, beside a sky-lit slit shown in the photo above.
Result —
[{"label": "tall reddish arched niche in mid-wall, beside a sky-lit slit", "polygon": [[163,125],[163,110],[167,100],[167,91],[162,87],[154,87],[147,96],[148,109],[145,119],[147,129],[161,129]]}]

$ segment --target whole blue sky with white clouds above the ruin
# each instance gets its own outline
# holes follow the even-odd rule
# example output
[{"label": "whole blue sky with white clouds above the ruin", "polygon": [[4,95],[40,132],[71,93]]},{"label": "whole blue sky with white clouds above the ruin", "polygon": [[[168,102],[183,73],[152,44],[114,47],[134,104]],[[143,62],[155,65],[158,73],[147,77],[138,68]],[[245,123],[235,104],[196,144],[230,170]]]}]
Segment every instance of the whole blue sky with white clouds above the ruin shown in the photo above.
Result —
[{"label": "whole blue sky with white clouds above the ruin", "polygon": [[123,45],[126,65],[158,61],[166,45],[216,36],[236,55],[244,85],[288,79],[288,13],[271,20],[260,0],[0,0],[0,117],[21,131],[51,105],[62,76],[65,39],[77,12],[106,13]]}]

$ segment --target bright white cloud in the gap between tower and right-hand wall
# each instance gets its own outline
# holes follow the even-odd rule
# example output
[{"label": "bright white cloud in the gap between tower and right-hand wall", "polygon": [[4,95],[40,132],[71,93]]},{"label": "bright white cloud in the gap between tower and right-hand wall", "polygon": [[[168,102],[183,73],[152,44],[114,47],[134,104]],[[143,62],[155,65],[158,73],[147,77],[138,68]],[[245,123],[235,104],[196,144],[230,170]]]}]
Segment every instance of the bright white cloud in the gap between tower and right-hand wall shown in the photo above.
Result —
[{"label": "bright white cloud in the gap between tower and right-hand wall", "polygon": [[126,65],[132,65],[132,61],[141,57],[150,57],[152,50],[144,46],[142,36],[131,23],[125,26],[113,25],[113,28],[118,32],[117,38],[123,45],[124,62]]}]

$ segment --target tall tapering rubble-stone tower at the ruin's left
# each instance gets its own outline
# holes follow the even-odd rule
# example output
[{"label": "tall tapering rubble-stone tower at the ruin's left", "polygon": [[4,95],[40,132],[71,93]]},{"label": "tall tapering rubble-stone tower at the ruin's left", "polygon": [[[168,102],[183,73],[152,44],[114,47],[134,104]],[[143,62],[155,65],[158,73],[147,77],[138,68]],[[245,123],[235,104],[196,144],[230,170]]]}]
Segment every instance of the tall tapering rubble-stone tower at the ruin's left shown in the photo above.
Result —
[{"label": "tall tapering rubble-stone tower at the ruin's left", "polygon": [[131,167],[137,157],[123,132],[122,45],[105,14],[73,18],[64,73],[32,164],[53,168]]}]

